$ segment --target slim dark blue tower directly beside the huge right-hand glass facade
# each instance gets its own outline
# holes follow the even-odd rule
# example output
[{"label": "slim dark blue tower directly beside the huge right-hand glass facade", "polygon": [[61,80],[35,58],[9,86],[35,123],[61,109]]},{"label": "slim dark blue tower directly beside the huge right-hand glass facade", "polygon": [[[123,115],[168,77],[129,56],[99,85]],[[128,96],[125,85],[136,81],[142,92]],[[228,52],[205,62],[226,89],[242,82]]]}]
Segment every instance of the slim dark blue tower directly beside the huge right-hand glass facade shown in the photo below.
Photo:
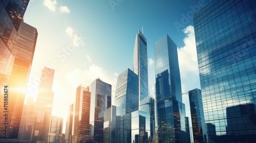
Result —
[{"label": "slim dark blue tower directly beside the huge right-hand glass facade", "polygon": [[194,142],[204,142],[206,136],[204,109],[200,89],[188,91]]}]

